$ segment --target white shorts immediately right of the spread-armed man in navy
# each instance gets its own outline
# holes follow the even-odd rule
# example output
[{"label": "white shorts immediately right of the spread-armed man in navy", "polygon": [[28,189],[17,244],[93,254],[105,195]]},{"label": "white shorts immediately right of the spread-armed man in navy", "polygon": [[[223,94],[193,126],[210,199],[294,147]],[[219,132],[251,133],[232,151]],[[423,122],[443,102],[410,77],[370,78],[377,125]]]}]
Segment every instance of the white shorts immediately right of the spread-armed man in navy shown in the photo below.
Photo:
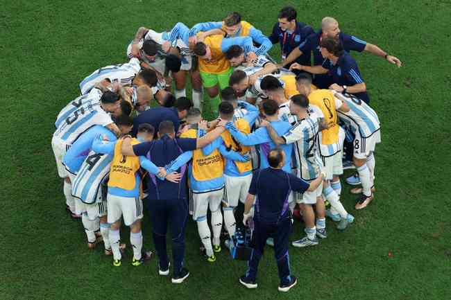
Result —
[{"label": "white shorts immediately right of the spread-armed man in navy", "polygon": [[189,213],[193,215],[193,220],[197,220],[199,217],[207,216],[207,209],[209,206],[210,211],[217,211],[220,209],[223,197],[224,188],[205,193],[196,193],[191,191]]}]

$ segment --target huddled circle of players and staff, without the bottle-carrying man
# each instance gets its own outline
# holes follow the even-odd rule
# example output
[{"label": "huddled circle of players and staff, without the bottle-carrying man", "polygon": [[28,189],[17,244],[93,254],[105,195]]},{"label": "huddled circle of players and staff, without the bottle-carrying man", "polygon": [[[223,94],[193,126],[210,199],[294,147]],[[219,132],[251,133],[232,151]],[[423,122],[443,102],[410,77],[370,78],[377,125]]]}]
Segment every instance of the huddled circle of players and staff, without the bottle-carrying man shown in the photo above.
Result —
[{"label": "huddled circle of players and staff, without the bottle-carrying man", "polygon": [[[273,44],[280,44],[280,63],[268,54]],[[192,28],[182,23],[161,33],[139,28],[126,50],[128,61],[83,79],[81,95],[55,123],[51,145],[67,211],[83,222],[88,247],[103,240],[105,254],[120,266],[124,220],[132,264],[142,265],[152,254],[142,246],[145,199],[159,274],[168,275],[169,261],[162,258],[166,244],[157,246],[166,227],[155,229],[164,210],[153,211],[160,206],[154,200],[164,200],[164,222],[173,231],[172,282],[181,283],[189,274],[180,238],[186,218],[182,206],[169,207],[169,200],[187,206],[205,259],[213,263],[221,240],[230,247],[241,226],[237,206],[246,200],[253,171],[269,168],[268,153],[276,148],[284,152],[285,172],[307,184],[324,176],[314,191],[288,196],[289,209],[299,212],[306,233],[292,245],[314,246],[327,238],[326,217],[346,229],[355,217],[340,201],[343,164],[357,170],[346,181],[359,185],[350,190],[358,195],[353,209],[364,209],[374,200],[374,151],[381,141],[380,120],[350,51],[368,51],[401,66],[378,46],[341,33],[334,18],[324,17],[315,31],[297,20],[292,7],[280,10],[268,36],[237,12]],[[187,97],[187,80],[192,97]],[[146,118],[134,123],[155,106],[178,112],[180,126]],[[214,120],[205,121],[202,112],[212,112]],[[272,238],[266,242],[273,245]]]}]

